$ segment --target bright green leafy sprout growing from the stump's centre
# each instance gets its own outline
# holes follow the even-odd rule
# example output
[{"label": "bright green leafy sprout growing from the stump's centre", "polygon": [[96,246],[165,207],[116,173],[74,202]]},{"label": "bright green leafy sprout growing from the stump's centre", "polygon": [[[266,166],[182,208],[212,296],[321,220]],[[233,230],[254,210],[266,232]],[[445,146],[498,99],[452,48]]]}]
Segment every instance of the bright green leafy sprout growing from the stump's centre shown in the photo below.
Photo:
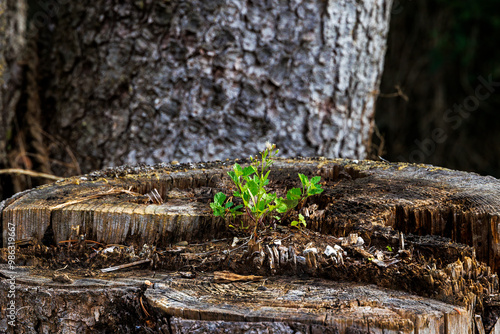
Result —
[{"label": "bright green leafy sprout growing from the stump's centre", "polygon": [[[246,214],[255,224],[255,235],[258,226],[265,227],[264,222],[268,217],[280,220],[282,217],[279,214],[284,216],[299,204],[302,206],[308,197],[323,192],[319,184],[320,176],[309,180],[304,174],[299,174],[302,189],[288,190],[286,198],[268,193],[265,187],[269,184],[270,167],[278,152],[276,145],[266,143],[266,149],[260,152],[260,159],[250,157],[252,163],[244,168],[235,163],[233,170],[227,174],[236,186],[233,196],[240,198],[243,204],[233,207],[232,201],[226,202],[226,195],[217,193],[214,201],[210,203],[214,216],[226,217],[229,214],[235,218],[237,215]],[[242,208],[244,211],[240,210]],[[306,226],[303,216],[302,220],[299,216],[299,221],[301,225]]]}]

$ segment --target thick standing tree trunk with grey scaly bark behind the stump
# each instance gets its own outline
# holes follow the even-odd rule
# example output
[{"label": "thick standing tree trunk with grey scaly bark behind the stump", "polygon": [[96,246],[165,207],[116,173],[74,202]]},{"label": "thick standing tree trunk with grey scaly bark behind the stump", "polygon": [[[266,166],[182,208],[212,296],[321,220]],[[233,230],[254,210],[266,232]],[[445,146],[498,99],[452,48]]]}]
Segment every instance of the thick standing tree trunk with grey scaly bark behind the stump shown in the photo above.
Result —
[{"label": "thick standing tree trunk with grey scaly bark behind the stump", "polygon": [[41,51],[45,127],[84,171],[244,156],[266,140],[363,158],[390,5],[69,2]]}]

